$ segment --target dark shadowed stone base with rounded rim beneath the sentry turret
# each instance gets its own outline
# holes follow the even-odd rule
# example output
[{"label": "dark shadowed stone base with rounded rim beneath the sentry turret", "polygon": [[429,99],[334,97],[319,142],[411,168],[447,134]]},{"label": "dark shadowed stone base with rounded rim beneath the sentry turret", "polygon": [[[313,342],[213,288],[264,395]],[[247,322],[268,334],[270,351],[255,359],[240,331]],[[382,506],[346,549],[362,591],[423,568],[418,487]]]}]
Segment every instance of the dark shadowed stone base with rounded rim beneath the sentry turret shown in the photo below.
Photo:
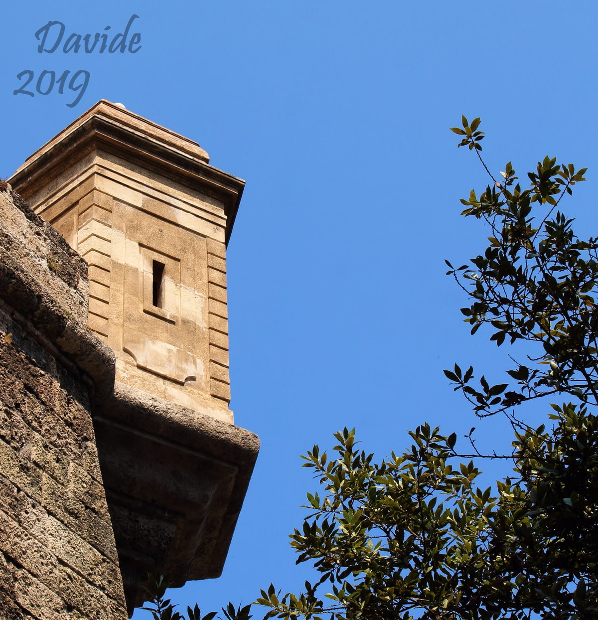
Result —
[{"label": "dark shadowed stone base with rounded rim beneath the sentry turret", "polygon": [[[139,581],[156,568],[175,587],[218,577],[257,458],[257,435],[121,383],[96,412],[127,601],[143,603]],[[152,527],[156,537],[139,548],[137,532]]]}]

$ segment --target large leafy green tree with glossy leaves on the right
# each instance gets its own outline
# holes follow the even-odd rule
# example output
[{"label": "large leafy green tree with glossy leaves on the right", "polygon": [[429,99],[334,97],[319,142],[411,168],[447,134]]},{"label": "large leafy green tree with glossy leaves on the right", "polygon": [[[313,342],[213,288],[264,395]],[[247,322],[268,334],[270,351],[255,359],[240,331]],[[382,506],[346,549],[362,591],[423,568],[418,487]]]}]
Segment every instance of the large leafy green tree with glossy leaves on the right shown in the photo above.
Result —
[{"label": "large leafy green tree with glossy leaves on the right", "polygon": [[[485,220],[491,236],[467,265],[447,262],[448,273],[470,298],[462,312],[472,334],[488,324],[490,340],[521,340],[528,355],[506,371],[510,387],[485,376],[474,385],[471,366],[445,374],[478,417],[506,415],[515,432],[504,455],[480,454],[470,433],[467,458],[509,459],[515,475],[495,496],[478,489],[455,434],[428,425],[379,464],[347,429],[333,458],[314,446],[305,466],[322,495],[307,495],[312,513],[291,544],[319,580],[299,595],[262,591],[266,618],[598,617],[598,242],[580,241],[558,210],[585,169],[545,157],[522,190],[510,162],[498,180],[486,167],[480,119],[462,121],[452,128],[459,146],[493,182],[462,200],[462,215]],[[515,415],[543,397],[571,399],[552,404],[551,428]]]}]

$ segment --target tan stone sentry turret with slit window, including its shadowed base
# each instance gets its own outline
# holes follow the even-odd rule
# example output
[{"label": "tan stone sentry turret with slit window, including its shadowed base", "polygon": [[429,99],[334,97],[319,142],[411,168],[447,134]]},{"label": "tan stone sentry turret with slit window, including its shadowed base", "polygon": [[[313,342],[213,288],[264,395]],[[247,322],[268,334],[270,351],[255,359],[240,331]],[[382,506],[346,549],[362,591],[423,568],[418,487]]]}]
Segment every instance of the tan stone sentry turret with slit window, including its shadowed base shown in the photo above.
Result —
[{"label": "tan stone sentry turret with slit window, including its shadowed base", "polygon": [[102,100],[9,183],[89,264],[87,327],[114,355],[108,381],[87,381],[91,417],[132,613],[146,572],[219,575],[257,456],[229,409],[225,252],[244,182]]}]

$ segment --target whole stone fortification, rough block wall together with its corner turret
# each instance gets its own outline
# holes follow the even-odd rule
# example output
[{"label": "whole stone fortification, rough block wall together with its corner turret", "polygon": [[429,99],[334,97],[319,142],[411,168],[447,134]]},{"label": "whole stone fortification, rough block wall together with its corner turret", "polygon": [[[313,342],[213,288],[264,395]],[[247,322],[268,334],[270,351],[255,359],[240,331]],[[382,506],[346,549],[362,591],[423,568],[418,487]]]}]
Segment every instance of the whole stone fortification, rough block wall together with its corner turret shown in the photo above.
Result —
[{"label": "whole stone fortification, rough block wall together with its corner turret", "polygon": [[218,577],[252,474],[229,410],[244,182],[101,101],[11,184],[68,244],[0,194],[0,603],[113,620],[147,572]]}]

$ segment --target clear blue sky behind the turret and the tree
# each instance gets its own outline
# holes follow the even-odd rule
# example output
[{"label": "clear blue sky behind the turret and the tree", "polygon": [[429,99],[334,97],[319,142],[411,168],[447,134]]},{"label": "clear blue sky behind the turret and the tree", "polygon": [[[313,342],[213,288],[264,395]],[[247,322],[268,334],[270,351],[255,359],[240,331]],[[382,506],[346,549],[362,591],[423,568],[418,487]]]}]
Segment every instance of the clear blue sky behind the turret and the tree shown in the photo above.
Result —
[{"label": "clear blue sky behind the turret and the tree", "polygon": [[[37,53],[48,20],[66,37],[117,32],[133,14],[138,53]],[[546,154],[588,167],[565,211],[595,235],[597,22],[595,2],[2,4],[0,176],[105,98],[247,180],[229,244],[231,407],[262,451],[223,576],[175,600],[207,612],[272,581],[301,588],[309,570],[294,566],[288,534],[314,482],[299,454],[345,425],[380,455],[425,420],[509,443],[442,374],[473,362],[498,383],[507,353],[468,335],[444,275],[445,258],[485,247],[459,198],[486,179],[448,128],[480,116],[494,172]],[[84,69],[89,86],[76,107],[56,92],[13,95],[24,69]]]}]

